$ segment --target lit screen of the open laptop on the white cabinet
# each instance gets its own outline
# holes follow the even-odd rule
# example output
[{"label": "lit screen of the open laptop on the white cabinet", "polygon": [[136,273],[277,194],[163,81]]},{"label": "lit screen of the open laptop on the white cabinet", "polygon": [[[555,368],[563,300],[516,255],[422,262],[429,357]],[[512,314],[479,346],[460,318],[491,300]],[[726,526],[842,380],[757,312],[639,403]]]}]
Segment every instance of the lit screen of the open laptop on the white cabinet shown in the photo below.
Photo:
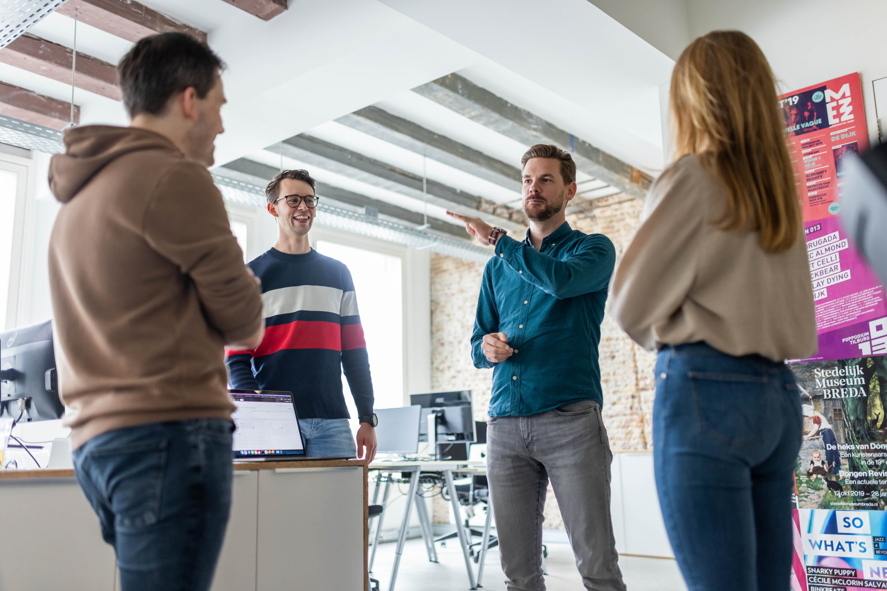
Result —
[{"label": "lit screen of the open laptop on the white cabinet", "polygon": [[273,457],[305,455],[293,394],[231,390],[237,406],[232,418],[234,457]]}]

